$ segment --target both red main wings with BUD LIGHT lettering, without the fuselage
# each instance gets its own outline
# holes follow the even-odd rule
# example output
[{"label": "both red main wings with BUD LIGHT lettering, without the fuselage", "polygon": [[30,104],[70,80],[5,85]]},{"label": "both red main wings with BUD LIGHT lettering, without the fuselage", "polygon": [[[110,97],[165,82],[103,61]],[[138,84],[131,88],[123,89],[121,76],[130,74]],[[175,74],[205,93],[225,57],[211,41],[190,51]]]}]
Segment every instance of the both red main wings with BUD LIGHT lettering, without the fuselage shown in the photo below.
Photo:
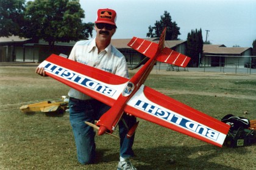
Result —
[{"label": "both red main wings with BUD LIGHT lettering, without the fuselage", "polygon": [[[57,55],[49,56],[40,67],[50,77],[109,106],[129,81]],[[229,131],[229,125],[144,85],[130,98],[124,111],[216,146],[222,146]]]}]

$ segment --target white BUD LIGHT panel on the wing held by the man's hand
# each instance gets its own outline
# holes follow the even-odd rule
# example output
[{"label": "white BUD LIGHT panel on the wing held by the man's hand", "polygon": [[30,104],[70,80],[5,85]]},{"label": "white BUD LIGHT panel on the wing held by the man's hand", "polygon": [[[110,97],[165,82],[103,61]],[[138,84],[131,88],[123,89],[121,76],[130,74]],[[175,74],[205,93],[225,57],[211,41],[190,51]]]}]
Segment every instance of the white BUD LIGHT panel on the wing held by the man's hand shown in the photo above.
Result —
[{"label": "white BUD LIGHT panel on the wing held by the man's hand", "polygon": [[108,95],[110,97],[112,97],[116,92],[115,89],[107,87],[103,84],[99,84],[98,82],[90,80],[87,77],[83,77],[83,75],[79,75],[76,72],[72,72],[71,70],[56,66],[52,63],[46,64],[46,66],[44,66],[44,69],[54,75],[62,77],[65,80],[74,82],[76,84],[79,84],[80,86],[87,87],[88,89],[95,90],[101,94]]}]

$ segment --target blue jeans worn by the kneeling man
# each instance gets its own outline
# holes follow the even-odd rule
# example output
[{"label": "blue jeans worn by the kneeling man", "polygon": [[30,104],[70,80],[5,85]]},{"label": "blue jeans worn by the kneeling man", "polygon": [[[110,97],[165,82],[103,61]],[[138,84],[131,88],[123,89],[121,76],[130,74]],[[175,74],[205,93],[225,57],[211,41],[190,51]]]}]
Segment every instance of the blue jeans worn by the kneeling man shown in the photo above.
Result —
[{"label": "blue jeans worn by the kneeling man", "polygon": [[[96,161],[96,145],[94,141],[95,132],[92,127],[85,124],[85,121],[94,123],[94,120],[99,120],[110,106],[101,103],[97,100],[77,100],[69,99],[69,120],[73,129],[74,139],[76,142],[77,158],[82,164],[90,164]],[[136,123],[135,117],[123,114],[123,119],[130,128]],[[131,138],[126,138],[128,132],[123,121],[119,121],[119,137],[120,137],[120,156],[129,158],[134,155],[132,145],[134,135]]]}]

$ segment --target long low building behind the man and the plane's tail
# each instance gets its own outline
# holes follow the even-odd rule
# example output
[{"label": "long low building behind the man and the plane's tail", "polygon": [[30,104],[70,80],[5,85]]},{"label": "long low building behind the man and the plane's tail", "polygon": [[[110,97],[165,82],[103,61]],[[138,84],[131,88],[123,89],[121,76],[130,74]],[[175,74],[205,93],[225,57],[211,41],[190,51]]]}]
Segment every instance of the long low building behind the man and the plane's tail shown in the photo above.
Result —
[{"label": "long low building behind the man and the plane's tail", "polygon": [[[5,39],[5,40],[4,40]],[[158,42],[157,38],[146,38],[149,41]],[[144,55],[127,46],[130,39],[112,39],[112,44],[126,56],[129,67],[135,67],[144,59]],[[186,52],[187,41],[165,41],[165,46],[177,52]],[[49,55],[63,53],[69,55],[76,42],[56,42],[53,49],[49,49],[48,42],[32,42],[29,39],[15,37],[1,38],[2,50],[0,62],[20,61],[40,63]],[[7,50],[8,49],[8,50]],[[6,53],[8,51],[8,53]]]}]

